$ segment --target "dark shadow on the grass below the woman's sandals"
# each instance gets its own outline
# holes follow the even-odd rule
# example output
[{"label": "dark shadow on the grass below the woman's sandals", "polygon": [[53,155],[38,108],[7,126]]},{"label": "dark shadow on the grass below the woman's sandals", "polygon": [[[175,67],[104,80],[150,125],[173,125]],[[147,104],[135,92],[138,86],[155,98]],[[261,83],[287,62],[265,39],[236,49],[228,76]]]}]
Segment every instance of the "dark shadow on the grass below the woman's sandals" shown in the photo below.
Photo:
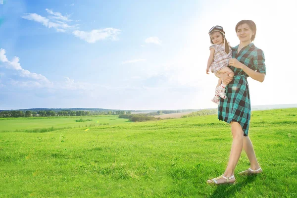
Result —
[{"label": "dark shadow on the grass below the woman's sandals", "polygon": [[247,184],[254,182],[257,175],[250,175],[243,182],[236,182],[234,185],[219,185],[210,198],[230,198],[239,193]]}]

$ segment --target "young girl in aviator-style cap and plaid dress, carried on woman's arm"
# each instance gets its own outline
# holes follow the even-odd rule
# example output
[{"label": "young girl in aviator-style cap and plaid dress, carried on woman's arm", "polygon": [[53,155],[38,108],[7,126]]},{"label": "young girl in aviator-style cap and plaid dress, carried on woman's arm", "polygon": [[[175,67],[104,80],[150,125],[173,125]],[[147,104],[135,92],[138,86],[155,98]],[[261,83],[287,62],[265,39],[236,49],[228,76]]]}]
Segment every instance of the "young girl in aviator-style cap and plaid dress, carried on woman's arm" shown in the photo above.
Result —
[{"label": "young girl in aviator-style cap and plaid dress, carried on woman's arm", "polygon": [[[228,67],[229,59],[232,56],[232,50],[229,43],[226,40],[223,27],[216,25],[212,27],[209,32],[210,43],[213,44],[209,47],[210,55],[207,62],[206,74],[209,74],[209,68],[213,73],[229,73],[229,76],[233,78],[234,73]],[[218,84],[215,90],[215,96],[211,101],[216,104],[220,104],[220,97],[226,99],[226,84],[221,79],[218,80]]]}]

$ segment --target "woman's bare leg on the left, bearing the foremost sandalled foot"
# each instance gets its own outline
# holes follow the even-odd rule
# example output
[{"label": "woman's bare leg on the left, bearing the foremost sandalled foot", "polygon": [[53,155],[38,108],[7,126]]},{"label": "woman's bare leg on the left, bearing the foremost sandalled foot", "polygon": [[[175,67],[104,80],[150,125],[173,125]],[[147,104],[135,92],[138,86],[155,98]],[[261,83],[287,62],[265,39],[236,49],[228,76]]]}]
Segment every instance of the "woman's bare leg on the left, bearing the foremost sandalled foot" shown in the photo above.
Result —
[{"label": "woman's bare leg on the left, bearing the foremost sandalled foot", "polygon": [[[231,177],[234,175],[234,170],[243,150],[244,144],[244,131],[238,122],[231,122],[231,132],[233,136],[233,142],[230,151],[229,162],[224,173],[225,177]],[[233,182],[234,180],[235,178],[231,179],[230,182]],[[208,182],[210,183],[210,180],[208,180]],[[226,179],[220,178],[217,180],[217,183],[226,183]]]}]

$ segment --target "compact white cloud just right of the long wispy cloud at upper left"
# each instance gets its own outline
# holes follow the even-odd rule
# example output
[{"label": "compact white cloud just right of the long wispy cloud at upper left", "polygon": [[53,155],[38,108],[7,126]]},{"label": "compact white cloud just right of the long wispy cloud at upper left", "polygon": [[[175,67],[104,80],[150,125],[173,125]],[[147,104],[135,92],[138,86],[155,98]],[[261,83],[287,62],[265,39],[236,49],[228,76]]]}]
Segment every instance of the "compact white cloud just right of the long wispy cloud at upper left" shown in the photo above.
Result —
[{"label": "compact white cloud just right of the long wispy cloud at upper left", "polygon": [[92,30],[91,32],[75,30],[72,32],[76,37],[87,41],[88,43],[96,43],[99,40],[111,39],[117,40],[117,35],[121,30],[114,28],[104,28],[99,30]]}]

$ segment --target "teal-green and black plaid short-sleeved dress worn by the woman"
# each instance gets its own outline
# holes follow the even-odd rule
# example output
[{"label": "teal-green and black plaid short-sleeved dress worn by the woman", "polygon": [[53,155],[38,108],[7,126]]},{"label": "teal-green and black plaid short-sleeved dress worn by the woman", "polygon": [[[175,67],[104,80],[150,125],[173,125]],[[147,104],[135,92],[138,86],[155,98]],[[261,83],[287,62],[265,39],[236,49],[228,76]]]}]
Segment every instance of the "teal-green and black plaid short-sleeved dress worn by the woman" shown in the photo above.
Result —
[{"label": "teal-green and black plaid short-sleeved dress worn by the woman", "polygon": [[[238,59],[250,69],[266,74],[265,57],[261,49],[253,43],[247,45],[239,53],[238,46],[232,48],[232,58]],[[240,123],[244,130],[244,136],[248,134],[250,120],[250,98],[247,77],[248,75],[239,68],[230,66],[235,76],[227,86],[227,99],[220,99],[218,107],[218,119],[230,123]]]}]

